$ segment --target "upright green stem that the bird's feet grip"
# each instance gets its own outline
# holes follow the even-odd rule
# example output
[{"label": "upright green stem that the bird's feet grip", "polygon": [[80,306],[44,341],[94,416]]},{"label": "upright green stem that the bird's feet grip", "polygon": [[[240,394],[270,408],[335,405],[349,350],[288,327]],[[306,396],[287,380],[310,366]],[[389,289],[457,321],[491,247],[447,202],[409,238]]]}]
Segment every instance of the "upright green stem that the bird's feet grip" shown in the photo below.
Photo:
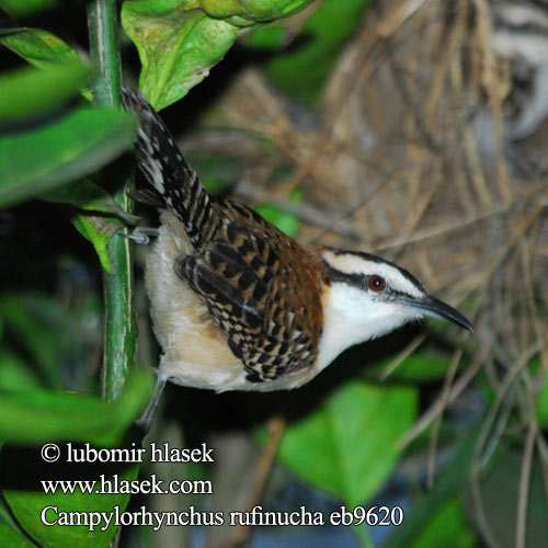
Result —
[{"label": "upright green stem that the bird's feet grip", "polygon": [[[115,0],[92,0],[88,8],[90,53],[94,68],[93,96],[103,107],[121,105],[121,68],[117,44]],[[118,181],[130,183],[127,174]],[[126,184],[114,194],[114,199],[130,212]],[[103,273],[105,299],[105,340],[103,362],[103,398],[112,401],[124,386],[128,372],[135,366],[137,322],[133,306],[133,253],[126,238],[114,236],[107,248],[112,273]]]}]

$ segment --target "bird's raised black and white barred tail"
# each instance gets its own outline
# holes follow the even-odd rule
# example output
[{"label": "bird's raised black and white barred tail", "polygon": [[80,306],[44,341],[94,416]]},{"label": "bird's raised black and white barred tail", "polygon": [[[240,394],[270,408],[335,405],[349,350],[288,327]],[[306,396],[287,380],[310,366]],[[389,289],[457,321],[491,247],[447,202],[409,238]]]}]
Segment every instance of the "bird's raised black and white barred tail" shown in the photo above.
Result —
[{"label": "bird's raised black and white barred tail", "polygon": [[145,95],[123,88],[122,96],[126,110],[140,119],[135,139],[139,169],[160,195],[163,207],[173,210],[183,224],[194,249],[202,250],[217,228],[207,191]]}]

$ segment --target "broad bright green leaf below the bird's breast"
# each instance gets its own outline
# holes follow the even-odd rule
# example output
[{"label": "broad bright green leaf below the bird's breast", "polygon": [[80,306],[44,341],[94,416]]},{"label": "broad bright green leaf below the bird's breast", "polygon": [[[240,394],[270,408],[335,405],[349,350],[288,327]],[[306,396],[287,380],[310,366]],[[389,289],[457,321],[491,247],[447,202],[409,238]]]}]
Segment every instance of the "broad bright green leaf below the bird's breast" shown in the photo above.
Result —
[{"label": "broad bright green leaf below the bird's breast", "polygon": [[345,504],[364,504],[397,464],[397,442],[413,423],[416,406],[414,388],[349,383],[321,409],[288,425],[279,459]]}]

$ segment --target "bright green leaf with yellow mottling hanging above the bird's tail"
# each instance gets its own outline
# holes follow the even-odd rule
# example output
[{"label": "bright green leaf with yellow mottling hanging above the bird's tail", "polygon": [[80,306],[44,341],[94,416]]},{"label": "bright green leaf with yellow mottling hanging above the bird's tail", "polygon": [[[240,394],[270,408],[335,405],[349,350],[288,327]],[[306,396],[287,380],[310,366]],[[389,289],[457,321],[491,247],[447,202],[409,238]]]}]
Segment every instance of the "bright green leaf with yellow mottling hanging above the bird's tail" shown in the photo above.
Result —
[{"label": "bright green leaf with yellow mottling hanging above the bird's tail", "polygon": [[311,0],[126,1],[122,25],[142,64],[139,85],[162,109],[201,82],[242,27],[295,13]]}]

